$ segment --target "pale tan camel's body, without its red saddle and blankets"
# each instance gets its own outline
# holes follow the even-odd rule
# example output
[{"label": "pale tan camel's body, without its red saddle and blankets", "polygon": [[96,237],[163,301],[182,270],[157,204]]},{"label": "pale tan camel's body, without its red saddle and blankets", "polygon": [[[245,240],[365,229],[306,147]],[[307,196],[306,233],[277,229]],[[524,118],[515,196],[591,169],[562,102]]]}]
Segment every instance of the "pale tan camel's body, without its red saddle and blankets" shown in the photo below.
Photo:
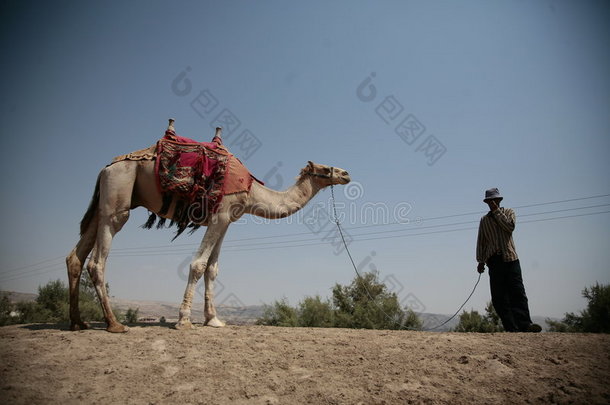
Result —
[{"label": "pale tan camel's body, without its red saddle and blankets", "polygon": [[[173,129],[172,124],[173,120],[170,120],[170,128]],[[218,130],[217,135],[220,135]],[[347,171],[309,161],[299,173],[296,183],[284,191],[272,190],[254,181],[249,192],[225,195],[218,210],[197,224],[206,226],[207,229],[190,264],[188,282],[175,328],[194,328],[191,322],[191,306],[195,286],[202,276],[205,282],[204,325],[225,326],[216,315],[214,280],[218,275],[218,257],[222,241],[231,223],[244,214],[268,219],[285,218],[303,208],[323,188],[349,182]],[[125,225],[132,209],[144,207],[161,218],[172,218],[175,205],[172,203],[169,210],[162,213],[162,199],[156,183],[155,162],[152,159],[122,160],[101,170],[93,197],[81,221],[80,240],[66,257],[71,330],[89,327],[81,320],[78,296],[81,272],[90,253],[87,271],[102,306],[106,330],[115,333],[129,330],[116,319],[110,307],[104,282],[106,259],[113,237]]]}]

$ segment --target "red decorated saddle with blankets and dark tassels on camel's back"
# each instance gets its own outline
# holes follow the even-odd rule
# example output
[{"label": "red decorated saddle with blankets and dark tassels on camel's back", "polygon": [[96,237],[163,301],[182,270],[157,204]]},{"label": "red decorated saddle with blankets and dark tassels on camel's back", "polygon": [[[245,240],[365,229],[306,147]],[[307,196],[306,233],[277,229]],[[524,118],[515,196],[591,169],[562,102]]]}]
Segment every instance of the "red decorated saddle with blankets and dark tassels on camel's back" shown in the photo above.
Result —
[{"label": "red decorated saddle with blankets and dark tassels on camel's back", "polygon": [[127,155],[122,160],[155,160],[157,187],[163,195],[158,214],[151,213],[144,228],[165,225],[166,216],[174,203],[170,226],[176,225],[176,237],[187,227],[197,230],[210,213],[217,212],[223,196],[248,192],[257,180],[241,161],[223,145],[221,129],[216,128],[212,142],[197,142],[178,136],[170,120],[165,136],[156,145]]}]

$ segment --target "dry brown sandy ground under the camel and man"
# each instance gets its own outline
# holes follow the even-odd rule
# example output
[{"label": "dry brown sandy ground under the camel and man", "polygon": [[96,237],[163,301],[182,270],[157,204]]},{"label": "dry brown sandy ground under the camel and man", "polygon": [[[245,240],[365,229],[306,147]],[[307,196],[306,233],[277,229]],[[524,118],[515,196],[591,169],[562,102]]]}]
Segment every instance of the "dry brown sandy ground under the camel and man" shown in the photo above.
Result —
[{"label": "dry brown sandy ground under the camel and man", "polygon": [[610,403],[610,335],[18,325],[0,358],[3,404]]}]

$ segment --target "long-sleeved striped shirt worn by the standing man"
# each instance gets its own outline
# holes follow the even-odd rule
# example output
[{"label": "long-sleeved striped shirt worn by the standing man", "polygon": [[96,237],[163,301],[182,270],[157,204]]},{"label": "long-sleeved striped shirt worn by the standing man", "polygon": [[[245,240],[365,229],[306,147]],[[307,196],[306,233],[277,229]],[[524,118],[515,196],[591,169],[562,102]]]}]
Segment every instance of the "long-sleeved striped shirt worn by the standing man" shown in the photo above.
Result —
[{"label": "long-sleeved striped shirt worn by the standing man", "polygon": [[477,238],[477,262],[486,263],[493,255],[501,255],[505,262],[517,260],[517,249],[513,241],[515,211],[498,208],[481,218]]}]

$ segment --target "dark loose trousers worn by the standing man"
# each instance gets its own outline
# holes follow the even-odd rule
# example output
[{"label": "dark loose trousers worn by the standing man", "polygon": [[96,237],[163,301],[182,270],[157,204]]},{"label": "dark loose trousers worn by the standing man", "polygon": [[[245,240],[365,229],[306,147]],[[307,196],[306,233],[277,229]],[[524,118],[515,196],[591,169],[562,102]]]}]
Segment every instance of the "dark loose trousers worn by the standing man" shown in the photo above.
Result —
[{"label": "dark loose trousers worn by the standing man", "polygon": [[532,323],[519,260],[502,261],[492,256],[487,261],[491,302],[507,332],[525,332]]}]

